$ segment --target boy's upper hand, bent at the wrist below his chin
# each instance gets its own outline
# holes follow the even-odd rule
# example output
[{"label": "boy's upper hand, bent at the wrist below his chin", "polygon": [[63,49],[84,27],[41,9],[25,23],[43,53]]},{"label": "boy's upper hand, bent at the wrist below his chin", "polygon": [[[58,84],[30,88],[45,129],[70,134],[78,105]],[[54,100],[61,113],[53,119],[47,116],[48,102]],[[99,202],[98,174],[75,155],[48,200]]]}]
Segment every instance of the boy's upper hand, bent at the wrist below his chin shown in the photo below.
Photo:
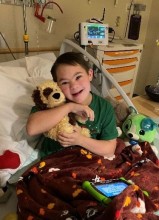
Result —
[{"label": "boy's upper hand, bent at the wrist below his chin", "polygon": [[71,104],[71,112],[79,115],[84,120],[94,121],[94,111],[89,106],[76,103],[69,104]]}]

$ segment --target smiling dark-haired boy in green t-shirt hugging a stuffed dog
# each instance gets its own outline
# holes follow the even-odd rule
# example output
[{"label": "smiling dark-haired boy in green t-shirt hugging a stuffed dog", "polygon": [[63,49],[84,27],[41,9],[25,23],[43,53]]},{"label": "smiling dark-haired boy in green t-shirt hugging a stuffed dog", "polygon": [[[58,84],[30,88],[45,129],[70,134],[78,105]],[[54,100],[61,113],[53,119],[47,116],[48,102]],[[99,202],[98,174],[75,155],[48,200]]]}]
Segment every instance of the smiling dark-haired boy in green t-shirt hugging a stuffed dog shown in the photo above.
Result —
[{"label": "smiling dark-haired boy in green t-shirt hugging a stuffed dog", "polygon": [[113,156],[118,135],[114,110],[108,101],[91,92],[93,70],[88,61],[80,53],[67,52],[57,58],[51,74],[69,102],[45,111],[33,108],[27,122],[28,134],[44,133],[72,112],[88,119],[85,126],[90,130],[91,138],[81,135],[77,128],[72,134],[59,134],[58,142],[45,138],[42,157],[73,145],[101,156]]}]

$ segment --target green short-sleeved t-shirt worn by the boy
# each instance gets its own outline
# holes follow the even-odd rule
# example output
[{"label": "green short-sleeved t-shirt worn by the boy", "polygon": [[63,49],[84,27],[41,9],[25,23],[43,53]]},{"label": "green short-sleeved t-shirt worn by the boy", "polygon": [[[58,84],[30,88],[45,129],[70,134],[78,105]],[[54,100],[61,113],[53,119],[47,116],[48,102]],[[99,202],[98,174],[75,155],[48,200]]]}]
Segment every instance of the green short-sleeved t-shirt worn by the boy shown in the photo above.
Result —
[{"label": "green short-sleeved t-shirt worn by the boy", "polygon": [[[85,127],[90,130],[91,137],[97,140],[111,140],[118,136],[116,129],[115,113],[112,105],[106,99],[92,93],[92,102],[89,107],[94,111],[94,121],[87,121]],[[34,106],[32,113],[38,111]],[[80,123],[79,123],[80,125]],[[59,142],[44,137],[40,156],[44,157],[49,154],[62,150],[63,147]]]}]

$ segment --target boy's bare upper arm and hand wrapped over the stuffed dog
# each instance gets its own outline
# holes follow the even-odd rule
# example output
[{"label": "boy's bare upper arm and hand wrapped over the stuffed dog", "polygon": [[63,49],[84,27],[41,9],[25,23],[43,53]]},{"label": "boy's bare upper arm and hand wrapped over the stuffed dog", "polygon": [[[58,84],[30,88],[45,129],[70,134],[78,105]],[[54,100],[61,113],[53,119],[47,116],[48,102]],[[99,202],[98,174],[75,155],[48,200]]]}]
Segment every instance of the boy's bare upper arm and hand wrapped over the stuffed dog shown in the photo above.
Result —
[{"label": "boy's bare upper arm and hand wrapped over the stuffed dog", "polygon": [[44,133],[56,126],[70,112],[85,115],[90,120],[94,120],[94,112],[88,106],[70,102],[53,109],[32,113],[27,121],[27,133],[31,136]]}]

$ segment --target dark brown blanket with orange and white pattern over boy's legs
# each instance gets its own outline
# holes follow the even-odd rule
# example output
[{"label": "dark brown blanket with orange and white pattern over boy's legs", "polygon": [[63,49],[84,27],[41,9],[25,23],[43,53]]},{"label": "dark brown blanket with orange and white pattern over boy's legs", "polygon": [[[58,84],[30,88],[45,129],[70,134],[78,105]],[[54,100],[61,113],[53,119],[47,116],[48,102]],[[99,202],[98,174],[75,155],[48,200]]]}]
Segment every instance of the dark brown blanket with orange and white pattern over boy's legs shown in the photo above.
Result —
[{"label": "dark brown blanket with orange and white pattern over boy's legs", "polygon": [[[118,140],[112,161],[76,146],[40,161],[17,183],[18,219],[159,219],[154,214],[159,210],[159,162],[149,143],[140,146],[142,156]],[[83,181],[96,177],[125,177],[135,184],[103,205],[82,189]]]}]

